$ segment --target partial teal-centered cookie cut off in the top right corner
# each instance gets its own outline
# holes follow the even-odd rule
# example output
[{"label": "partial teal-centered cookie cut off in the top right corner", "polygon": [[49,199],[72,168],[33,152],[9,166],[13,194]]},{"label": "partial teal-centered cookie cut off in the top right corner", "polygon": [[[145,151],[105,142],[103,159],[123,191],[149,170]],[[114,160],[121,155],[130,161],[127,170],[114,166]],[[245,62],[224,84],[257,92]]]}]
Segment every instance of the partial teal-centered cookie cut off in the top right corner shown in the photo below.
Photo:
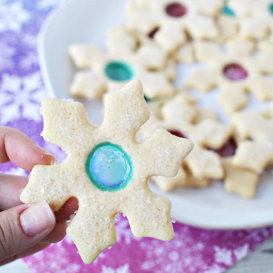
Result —
[{"label": "partial teal-centered cookie cut off in the top right corner", "polygon": [[243,38],[263,39],[273,34],[272,0],[229,0],[229,6],[237,14]]}]

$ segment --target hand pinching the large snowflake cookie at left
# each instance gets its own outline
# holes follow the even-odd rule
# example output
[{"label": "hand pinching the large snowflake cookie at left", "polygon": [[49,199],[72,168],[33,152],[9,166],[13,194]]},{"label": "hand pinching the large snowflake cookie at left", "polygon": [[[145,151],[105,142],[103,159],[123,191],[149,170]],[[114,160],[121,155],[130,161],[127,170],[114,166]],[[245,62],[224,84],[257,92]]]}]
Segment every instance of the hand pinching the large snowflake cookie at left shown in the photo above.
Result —
[{"label": "hand pinching the large snowflake cookie at left", "polygon": [[[36,164],[50,164],[54,159],[22,132],[0,126],[0,163],[11,161],[31,170]],[[22,204],[20,190],[26,184],[26,177],[0,174],[0,266],[62,240],[66,221],[77,209],[75,198],[56,213],[46,202]]]}]

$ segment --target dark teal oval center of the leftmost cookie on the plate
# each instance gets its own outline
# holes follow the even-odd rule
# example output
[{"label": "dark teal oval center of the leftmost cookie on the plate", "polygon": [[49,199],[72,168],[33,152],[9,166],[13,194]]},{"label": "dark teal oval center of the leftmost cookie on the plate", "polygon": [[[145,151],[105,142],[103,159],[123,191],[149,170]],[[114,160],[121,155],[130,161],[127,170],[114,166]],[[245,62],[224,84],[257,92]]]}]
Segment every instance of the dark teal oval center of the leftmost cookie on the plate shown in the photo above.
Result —
[{"label": "dark teal oval center of the leftmost cookie on the plate", "polygon": [[110,62],[105,67],[105,74],[115,81],[130,80],[134,76],[133,68],[125,62]]}]

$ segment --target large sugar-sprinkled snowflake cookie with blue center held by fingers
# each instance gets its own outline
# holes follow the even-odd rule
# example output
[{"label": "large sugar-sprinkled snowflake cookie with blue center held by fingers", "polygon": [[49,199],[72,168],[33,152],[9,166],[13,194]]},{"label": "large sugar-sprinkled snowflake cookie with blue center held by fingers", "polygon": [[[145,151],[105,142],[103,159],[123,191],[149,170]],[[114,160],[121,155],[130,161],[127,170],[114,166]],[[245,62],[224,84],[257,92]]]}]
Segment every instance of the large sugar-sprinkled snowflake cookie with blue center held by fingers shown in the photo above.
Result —
[{"label": "large sugar-sprinkled snowflake cookie with blue center held by fingers", "polygon": [[136,132],[149,118],[140,81],[105,96],[105,117],[92,126],[78,102],[46,99],[43,136],[68,154],[55,165],[36,165],[21,194],[46,200],[57,211],[72,196],[79,208],[67,228],[85,263],[116,242],[114,217],[123,212],[136,237],[173,238],[171,203],[148,186],[154,175],[174,176],[192,141],[158,129],[146,141]]}]

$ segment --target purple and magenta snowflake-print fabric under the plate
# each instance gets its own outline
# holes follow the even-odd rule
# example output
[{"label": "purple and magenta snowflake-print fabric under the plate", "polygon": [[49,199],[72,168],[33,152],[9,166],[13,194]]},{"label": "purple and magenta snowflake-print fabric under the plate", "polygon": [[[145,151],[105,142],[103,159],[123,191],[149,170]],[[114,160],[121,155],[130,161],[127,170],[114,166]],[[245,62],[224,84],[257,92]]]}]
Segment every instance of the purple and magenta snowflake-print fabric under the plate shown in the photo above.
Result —
[{"label": "purple and magenta snowflake-print fabric under the plate", "polygon": [[[62,159],[62,151],[40,136],[40,103],[47,97],[37,57],[37,34],[58,0],[0,2],[0,125],[17,128]],[[27,173],[12,163],[0,171]],[[84,265],[71,240],[24,259],[33,273],[220,273],[273,234],[273,228],[242,231],[203,230],[174,223],[175,239],[137,239],[123,216],[116,223],[118,242]]]}]

